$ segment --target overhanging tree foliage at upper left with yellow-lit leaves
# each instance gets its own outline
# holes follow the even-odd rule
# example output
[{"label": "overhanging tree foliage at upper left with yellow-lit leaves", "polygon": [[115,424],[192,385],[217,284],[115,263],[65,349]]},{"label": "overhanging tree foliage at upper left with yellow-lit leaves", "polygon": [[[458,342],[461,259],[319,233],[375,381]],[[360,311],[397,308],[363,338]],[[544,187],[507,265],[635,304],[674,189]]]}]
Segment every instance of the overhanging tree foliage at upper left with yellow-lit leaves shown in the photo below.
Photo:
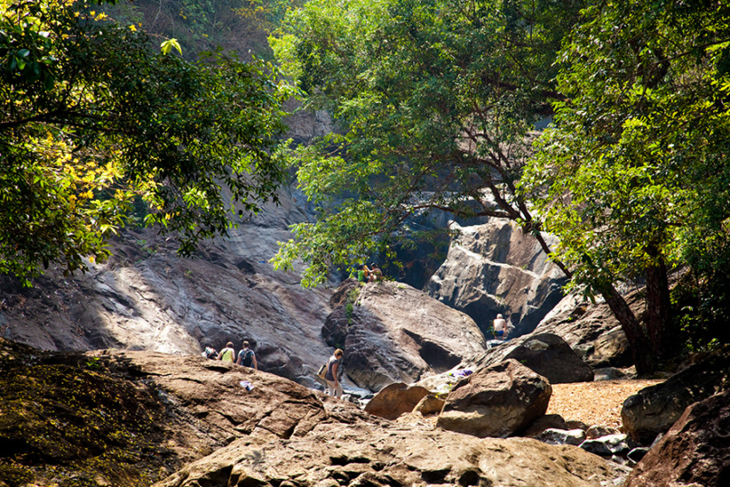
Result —
[{"label": "overhanging tree foliage at upper left with yellow-lit leaves", "polygon": [[155,53],[92,8],[0,5],[0,272],[105,258],[136,198],[188,255],[226,233],[233,203],[257,211],[283,181],[271,154],[292,91],[271,66]]}]

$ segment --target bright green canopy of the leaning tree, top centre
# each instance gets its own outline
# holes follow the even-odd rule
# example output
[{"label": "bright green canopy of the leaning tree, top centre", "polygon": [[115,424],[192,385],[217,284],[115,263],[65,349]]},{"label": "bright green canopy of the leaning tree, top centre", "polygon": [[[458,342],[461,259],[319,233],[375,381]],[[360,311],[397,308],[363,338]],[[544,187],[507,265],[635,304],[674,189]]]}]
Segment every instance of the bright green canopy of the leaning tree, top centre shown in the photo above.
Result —
[{"label": "bright green canopy of the leaning tree, top centre", "polygon": [[392,252],[426,211],[521,220],[527,136],[557,97],[552,68],[576,2],[313,0],[270,40],[339,127],[295,151],[321,216],[295,225],[275,266],[303,283]]}]

